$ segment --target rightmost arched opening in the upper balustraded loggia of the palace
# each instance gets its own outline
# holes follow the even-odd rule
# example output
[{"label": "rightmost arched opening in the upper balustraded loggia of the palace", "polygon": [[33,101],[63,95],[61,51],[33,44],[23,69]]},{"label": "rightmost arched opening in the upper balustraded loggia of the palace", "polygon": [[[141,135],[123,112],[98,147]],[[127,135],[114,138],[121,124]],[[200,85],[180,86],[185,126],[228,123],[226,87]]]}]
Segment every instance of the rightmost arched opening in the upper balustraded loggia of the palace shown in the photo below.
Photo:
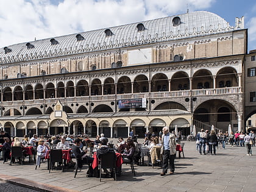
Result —
[{"label": "rightmost arched opening in the upper balustraded loggia of the palace", "polygon": [[230,67],[222,68],[216,75],[216,85],[222,87],[238,87],[238,74]]}]

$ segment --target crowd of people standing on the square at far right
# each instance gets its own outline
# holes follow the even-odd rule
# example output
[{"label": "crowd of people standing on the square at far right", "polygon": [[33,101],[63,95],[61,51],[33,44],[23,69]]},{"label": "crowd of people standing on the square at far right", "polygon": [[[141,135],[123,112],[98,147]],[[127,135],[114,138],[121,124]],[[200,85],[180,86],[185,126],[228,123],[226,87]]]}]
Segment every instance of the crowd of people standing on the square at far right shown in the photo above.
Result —
[{"label": "crowd of people standing on the square at far right", "polygon": [[199,151],[199,154],[210,154],[216,155],[216,147],[218,144],[222,145],[222,149],[226,148],[226,144],[230,143],[230,146],[246,146],[246,155],[252,155],[252,146],[255,146],[255,133],[251,132],[238,132],[235,134],[233,132],[228,133],[221,132],[218,133],[215,130],[201,129],[201,132],[198,132],[196,135],[196,150]]}]

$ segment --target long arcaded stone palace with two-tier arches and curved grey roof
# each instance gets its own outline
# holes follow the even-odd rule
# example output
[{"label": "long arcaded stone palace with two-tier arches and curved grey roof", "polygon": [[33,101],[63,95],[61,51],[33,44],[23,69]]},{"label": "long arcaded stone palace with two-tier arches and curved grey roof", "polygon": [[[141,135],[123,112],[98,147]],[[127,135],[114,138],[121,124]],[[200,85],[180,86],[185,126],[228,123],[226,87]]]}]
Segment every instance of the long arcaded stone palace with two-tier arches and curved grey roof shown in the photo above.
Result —
[{"label": "long arcaded stone palace with two-tier arches and curved grey roof", "polygon": [[19,137],[242,130],[243,24],[191,12],[2,48],[1,127]]}]

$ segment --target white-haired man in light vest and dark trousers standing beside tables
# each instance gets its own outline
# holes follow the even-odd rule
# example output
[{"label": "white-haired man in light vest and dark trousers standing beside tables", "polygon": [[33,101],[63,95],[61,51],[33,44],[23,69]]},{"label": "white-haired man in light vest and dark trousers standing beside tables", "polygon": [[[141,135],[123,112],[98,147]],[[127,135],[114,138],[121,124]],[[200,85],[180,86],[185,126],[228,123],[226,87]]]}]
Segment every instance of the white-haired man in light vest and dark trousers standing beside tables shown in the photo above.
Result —
[{"label": "white-haired man in light vest and dark trousers standing beside tables", "polygon": [[168,163],[170,164],[169,174],[174,173],[174,158],[176,156],[176,136],[173,133],[169,133],[168,127],[163,127],[162,130],[163,144],[161,146],[161,154],[163,155],[163,171],[160,175],[165,176],[168,169]]}]

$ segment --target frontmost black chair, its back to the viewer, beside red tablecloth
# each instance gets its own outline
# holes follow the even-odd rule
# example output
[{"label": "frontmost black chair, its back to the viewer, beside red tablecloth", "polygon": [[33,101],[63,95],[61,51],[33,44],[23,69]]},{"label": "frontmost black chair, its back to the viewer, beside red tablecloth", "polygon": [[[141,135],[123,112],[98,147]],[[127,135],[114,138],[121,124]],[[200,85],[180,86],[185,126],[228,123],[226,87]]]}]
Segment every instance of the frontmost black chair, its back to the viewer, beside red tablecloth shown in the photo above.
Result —
[{"label": "frontmost black chair, its back to the viewer, beside red tablecloth", "polygon": [[116,154],[115,152],[107,152],[99,158],[99,181],[101,182],[101,169],[111,169],[116,180]]}]

